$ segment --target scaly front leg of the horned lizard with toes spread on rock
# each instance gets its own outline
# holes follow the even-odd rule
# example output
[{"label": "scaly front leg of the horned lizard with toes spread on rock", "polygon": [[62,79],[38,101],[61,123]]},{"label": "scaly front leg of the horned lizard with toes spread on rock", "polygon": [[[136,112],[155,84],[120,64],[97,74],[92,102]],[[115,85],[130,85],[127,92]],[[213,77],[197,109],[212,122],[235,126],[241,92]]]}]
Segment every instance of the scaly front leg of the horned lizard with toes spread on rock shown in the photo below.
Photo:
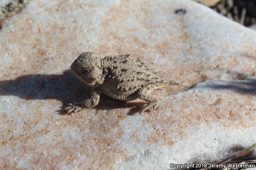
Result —
[{"label": "scaly front leg of the horned lizard with toes spread on rock", "polygon": [[96,87],[92,87],[91,99],[86,99],[78,104],[68,104],[68,107],[65,107],[68,113],[74,111],[74,113],[82,110],[84,107],[92,108],[98,105],[100,100],[100,89]]}]

